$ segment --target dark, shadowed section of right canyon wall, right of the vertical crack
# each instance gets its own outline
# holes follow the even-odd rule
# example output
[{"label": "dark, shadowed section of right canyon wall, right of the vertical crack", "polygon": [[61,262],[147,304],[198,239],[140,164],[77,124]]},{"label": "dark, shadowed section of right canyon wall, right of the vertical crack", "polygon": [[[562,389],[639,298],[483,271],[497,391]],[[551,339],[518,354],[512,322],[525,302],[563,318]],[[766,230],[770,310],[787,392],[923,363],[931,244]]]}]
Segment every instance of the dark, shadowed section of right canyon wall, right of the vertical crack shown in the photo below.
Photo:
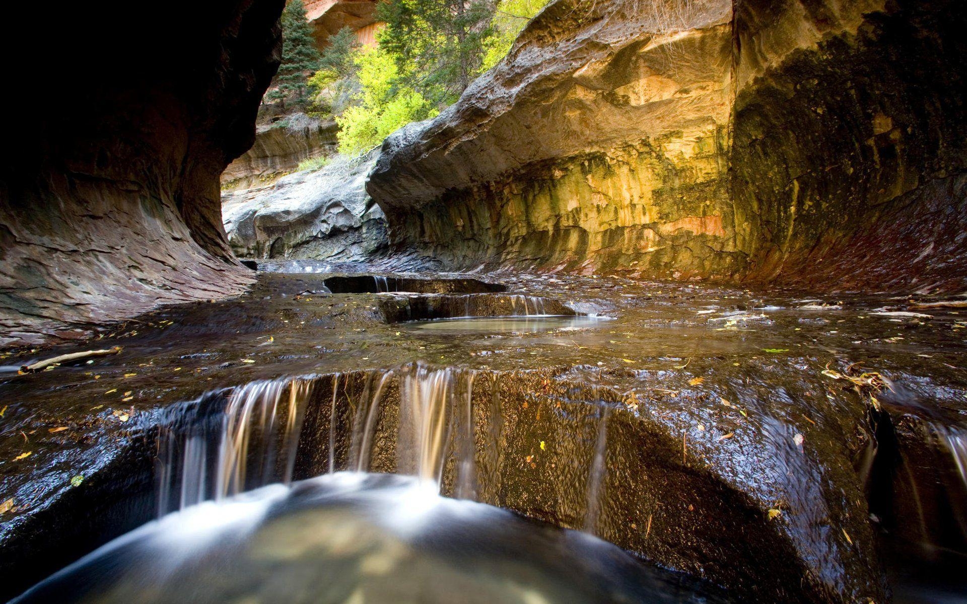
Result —
[{"label": "dark, shadowed section of right canyon wall, right of the vertical crack", "polygon": [[735,23],[748,276],[962,291],[963,5],[745,3]]}]

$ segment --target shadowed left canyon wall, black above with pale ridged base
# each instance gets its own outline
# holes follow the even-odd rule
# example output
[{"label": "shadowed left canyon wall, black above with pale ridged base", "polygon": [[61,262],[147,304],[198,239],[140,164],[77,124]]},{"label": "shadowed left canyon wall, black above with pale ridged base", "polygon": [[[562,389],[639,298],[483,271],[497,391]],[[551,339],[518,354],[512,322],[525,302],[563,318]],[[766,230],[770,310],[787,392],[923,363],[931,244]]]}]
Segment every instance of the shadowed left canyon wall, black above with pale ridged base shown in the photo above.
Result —
[{"label": "shadowed left canyon wall, black above with pale ridged base", "polygon": [[7,53],[8,81],[36,97],[0,163],[0,345],[245,288],[219,175],[251,145],[283,4],[23,7],[45,42]]}]

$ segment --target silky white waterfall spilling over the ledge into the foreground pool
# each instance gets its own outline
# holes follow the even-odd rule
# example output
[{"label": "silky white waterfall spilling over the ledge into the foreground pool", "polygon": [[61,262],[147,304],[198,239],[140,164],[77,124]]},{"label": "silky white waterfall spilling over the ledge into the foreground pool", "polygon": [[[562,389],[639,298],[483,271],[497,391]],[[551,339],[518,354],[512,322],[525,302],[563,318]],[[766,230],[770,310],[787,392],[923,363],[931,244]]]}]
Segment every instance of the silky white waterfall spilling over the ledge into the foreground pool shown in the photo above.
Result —
[{"label": "silky white waterfall spilling over the ledge into the foreground pool", "polygon": [[[394,370],[259,381],[235,388],[215,401],[223,401],[220,415],[196,412],[199,417],[182,417],[180,427],[162,430],[158,513],[272,482],[288,483],[297,458],[307,460],[308,468],[300,462],[302,472],[370,472],[374,465],[381,472],[394,471],[385,455],[376,463],[373,458],[380,447],[392,448],[392,442],[386,440],[388,434],[396,437],[396,473],[438,484],[447,476],[456,497],[472,499],[476,495],[471,403],[475,376],[473,371],[454,367],[413,364]],[[325,391],[330,385],[331,393]],[[394,386],[398,396],[388,398]],[[316,388],[322,393],[313,398]],[[217,396],[220,394],[209,395]],[[393,417],[397,410],[389,403],[398,403],[398,421]],[[315,450],[302,451],[299,442],[307,414],[324,431],[321,439],[308,434]],[[340,428],[340,420],[346,418],[349,423]],[[348,458],[337,455],[340,436],[343,443],[348,441]],[[317,458],[316,451],[323,448],[328,451]],[[447,472],[450,460],[454,461],[452,481]]]}]

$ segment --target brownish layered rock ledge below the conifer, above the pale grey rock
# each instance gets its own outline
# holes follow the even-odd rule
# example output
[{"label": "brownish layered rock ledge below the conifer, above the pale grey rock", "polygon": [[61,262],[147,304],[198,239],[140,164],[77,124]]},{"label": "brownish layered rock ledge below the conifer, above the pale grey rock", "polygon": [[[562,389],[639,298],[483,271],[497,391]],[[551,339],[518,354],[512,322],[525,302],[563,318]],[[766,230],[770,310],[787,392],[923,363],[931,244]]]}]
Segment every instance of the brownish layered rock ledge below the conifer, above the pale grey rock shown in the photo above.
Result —
[{"label": "brownish layered rock ledge below the conifer, above the pale grey rock", "polygon": [[258,127],[251,149],[222,172],[222,189],[266,186],[295,172],[300,161],[336,155],[336,122],[308,119],[302,122],[305,124]]}]

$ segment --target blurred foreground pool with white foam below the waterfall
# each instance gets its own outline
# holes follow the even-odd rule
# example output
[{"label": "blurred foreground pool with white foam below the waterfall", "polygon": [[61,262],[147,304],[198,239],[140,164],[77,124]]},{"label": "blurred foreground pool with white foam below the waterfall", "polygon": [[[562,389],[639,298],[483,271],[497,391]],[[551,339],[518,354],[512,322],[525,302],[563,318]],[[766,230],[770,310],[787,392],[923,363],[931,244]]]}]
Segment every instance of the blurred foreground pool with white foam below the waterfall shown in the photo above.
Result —
[{"label": "blurred foreground pool with white foam below the waterfall", "polygon": [[168,514],[18,603],[723,603],[591,535],[339,473]]}]

